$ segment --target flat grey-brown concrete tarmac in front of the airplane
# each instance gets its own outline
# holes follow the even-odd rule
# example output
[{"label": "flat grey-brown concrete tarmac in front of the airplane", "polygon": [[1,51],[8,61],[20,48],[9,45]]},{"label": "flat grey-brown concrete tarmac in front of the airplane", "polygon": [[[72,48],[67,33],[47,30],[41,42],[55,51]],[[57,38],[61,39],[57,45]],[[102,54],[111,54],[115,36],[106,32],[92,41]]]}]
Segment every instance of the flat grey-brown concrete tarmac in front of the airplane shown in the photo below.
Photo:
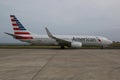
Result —
[{"label": "flat grey-brown concrete tarmac in front of the airplane", "polygon": [[120,80],[120,49],[0,49],[0,80]]}]

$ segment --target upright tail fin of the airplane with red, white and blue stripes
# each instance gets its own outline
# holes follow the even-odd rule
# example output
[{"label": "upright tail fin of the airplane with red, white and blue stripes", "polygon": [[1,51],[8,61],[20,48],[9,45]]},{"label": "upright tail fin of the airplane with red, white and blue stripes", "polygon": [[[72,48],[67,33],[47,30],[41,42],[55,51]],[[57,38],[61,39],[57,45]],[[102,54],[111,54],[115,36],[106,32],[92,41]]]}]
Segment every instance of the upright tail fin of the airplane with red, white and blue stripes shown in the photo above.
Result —
[{"label": "upright tail fin of the airplane with red, white and blue stripes", "polygon": [[10,15],[15,35],[30,35],[30,32],[20,23],[15,15]]}]

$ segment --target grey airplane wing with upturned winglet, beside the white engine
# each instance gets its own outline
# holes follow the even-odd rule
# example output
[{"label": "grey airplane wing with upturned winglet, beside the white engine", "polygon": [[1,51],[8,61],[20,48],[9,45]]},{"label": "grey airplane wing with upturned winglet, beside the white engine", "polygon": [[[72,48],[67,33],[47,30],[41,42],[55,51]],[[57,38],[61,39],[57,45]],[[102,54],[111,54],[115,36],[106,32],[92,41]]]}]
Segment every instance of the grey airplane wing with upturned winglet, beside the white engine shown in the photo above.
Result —
[{"label": "grey airplane wing with upturned winglet, beside the white engine", "polygon": [[71,45],[71,42],[72,42],[71,40],[57,38],[57,37],[53,36],[47,28],[45,28],[45,29],[46,29],[47,35],[50,38],[55,39],[59,43],[59,45],[68,45],[68,46]]}]

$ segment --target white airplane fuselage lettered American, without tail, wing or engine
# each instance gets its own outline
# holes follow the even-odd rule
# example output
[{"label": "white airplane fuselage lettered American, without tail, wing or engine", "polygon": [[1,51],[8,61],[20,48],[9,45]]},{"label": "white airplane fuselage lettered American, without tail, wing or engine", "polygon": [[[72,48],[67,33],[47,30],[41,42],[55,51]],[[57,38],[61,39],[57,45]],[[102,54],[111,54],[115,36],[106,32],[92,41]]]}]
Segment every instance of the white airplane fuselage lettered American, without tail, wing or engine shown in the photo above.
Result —
[{"label": "white airplane fuselage lettered American, without tail, wing or engine", "polygon": [[[23,35],[22,35],[23,36]],[[26,36],[26,35],[25,35]],[[56,46],[59,45],[55,39],[49,38],[47,35],[32,35],[33,39],[21,40],[24,42],[29,42],[34,45],[44,45],[44,46]],[[100,36],[76,36],[76,35],[55,35],[58,38],[67,41],[81,42],[82,45],[97,45],[106,46],[112,43],[105,37]]]}]

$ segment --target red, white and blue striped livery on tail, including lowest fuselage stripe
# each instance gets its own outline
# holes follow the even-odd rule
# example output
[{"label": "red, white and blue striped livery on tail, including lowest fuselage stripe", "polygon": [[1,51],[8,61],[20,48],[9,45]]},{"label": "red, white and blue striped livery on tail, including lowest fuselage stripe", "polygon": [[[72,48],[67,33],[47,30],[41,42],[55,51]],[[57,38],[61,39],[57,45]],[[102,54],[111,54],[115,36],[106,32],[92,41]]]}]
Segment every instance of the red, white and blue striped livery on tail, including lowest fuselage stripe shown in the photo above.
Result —
[{"label": "red, white and blue striped livery on tail, including lowest fuselage stripe", "polygon": [[16,36],[16,39],[33,39],[30,36],[30,32],[26,30],[26,28],[20,23],[20,21],[14,16],[10,15],[14,34],[15,35],[26,35],[26,36]]}]

